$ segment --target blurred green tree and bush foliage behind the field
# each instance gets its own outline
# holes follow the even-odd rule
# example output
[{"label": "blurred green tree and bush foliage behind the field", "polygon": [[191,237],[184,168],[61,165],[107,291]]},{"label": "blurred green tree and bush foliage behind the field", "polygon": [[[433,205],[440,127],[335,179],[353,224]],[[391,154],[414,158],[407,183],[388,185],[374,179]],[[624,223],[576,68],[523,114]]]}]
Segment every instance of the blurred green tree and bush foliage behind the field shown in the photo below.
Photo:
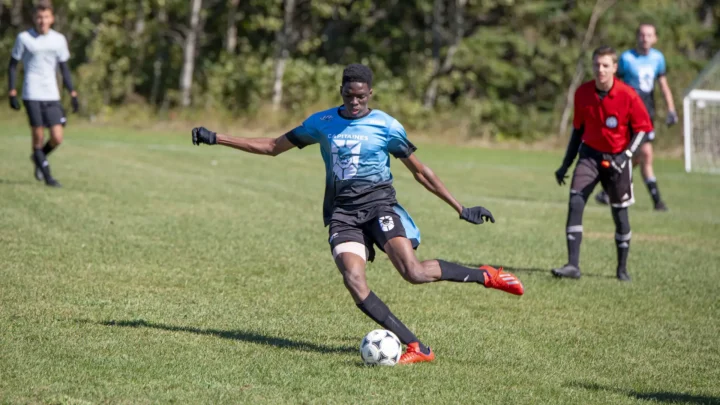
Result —
[{"label": "blurred green tree and bush foliage behind the field", "polygon": [[[237,47],[228,51],[232,1],[204,1],[193,108],[223,110],[236,117],[261,111],[272,99],[278,39],[287,31],[289,59],[280,107],[288,117],[300,119],[309,107],[339,103],[340,71],[360,61],[376,73],[378,107],[396,114],[410,129],[441,127],[468,135],[541,138],[557,127],[578,58],[588,59],[579,48],[595,5],[594,0],[468,0],[458,14],[458,2],[450,0],[295,3],[286,30],[285,1],[239,1]],[[632,47],[637,24],[655,23],[657,47],[666,55],[679,104],[682,90],[720,44],[720,29],[714,23],[720,7],[715,3],[619,1],[601,17],[591,48]],[[29,1],[22,26],[10,24],[11,2],[0,4],[0,58],[6,59],[14,36],[32,21]],[[177,106],[189,4],[55,1],[56,28],[70,40],[84,114],[139,100],[157,109]],[[442,21],[434,25],[437,6],[442,8]],[[450,69],[438,72],[453,47],[457,52]],[[586,63],[586,79],[589,68]],[[434,77],[437,95],[428,109],[423,105]]]}]

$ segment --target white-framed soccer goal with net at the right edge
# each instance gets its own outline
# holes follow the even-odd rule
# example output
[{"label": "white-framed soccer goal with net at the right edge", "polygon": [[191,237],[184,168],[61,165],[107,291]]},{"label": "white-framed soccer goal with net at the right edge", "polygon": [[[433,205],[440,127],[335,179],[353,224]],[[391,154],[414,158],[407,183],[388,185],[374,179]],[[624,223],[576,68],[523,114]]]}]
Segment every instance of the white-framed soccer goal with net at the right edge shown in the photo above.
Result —
[{"label": "white-framed soccer goal with net at the right edge", "polygon": [[720,173],[720,52],[683,99],[685,171]]}]

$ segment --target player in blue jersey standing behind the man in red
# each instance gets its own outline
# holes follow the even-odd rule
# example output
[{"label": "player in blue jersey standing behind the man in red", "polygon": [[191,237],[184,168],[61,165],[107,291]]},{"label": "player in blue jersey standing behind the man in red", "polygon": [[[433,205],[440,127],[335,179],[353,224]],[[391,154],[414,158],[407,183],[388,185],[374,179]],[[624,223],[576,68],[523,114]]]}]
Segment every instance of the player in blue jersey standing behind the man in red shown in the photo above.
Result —
[{"label": "player in blue jersey standing behind the man in red", "polygon": [[[662,52],[653,48],[656,42],[657,31],[655,26],[648,23],[640,24],[637,28],[637,47],[623,52],[620,56],[617,75],[640,95],[648,114],[650,114],[650,119],[653,121],[655,120],[655,81],[657,81],[660,84],[668,109],[666,124],[671,126],[678,122],[678,116],[677,112],[675,112],[672,91],[667,82],[665,56]],[[634,165],[640,164],[640,171],[653,199],[655,210],[667,211],[667,206],[660,197],[660,190],[657,186],[657,179],[652,165],[652,141],[654,139],[655,131],[652,131],[647,135],[646,142],[640,147],[637,157],[633,159],[633,163]],[[608,204],[609,202],[604,191],[598,193],[595,199],[601,204]]]}]

